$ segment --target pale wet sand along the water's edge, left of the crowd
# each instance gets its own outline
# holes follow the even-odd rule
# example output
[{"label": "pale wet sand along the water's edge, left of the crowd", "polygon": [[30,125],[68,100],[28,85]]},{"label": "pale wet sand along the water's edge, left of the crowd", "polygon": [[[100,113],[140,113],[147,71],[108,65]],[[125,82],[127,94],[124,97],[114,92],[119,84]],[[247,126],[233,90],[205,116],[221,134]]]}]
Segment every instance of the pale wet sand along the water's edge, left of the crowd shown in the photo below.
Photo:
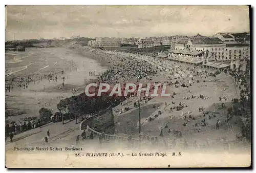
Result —
[{"label": "pale wet sand along the water's edge, left of the crowd", "polygon": [[[11,92],[5,93],[6,103],[8,103],[7,110],[17,109],[18,112],[25,112],[25,114],[15,115],[15,112],[17,112],[15,111],[12,113],[13,115],[6,117],[6,120],[23,121],[22,119],[26,117],[32,117],[32,116],[39,117],[38,111],[36,111],[38,109],[38,106],[44,107],[47,104],[46,108],[49,108],[48,106],[49,103],[51,103],[50,107],[53,108],[54,110],[53,113],[55,113],[57,111],[55,104],[57,104],[61,99],[65,99],[66,97],[71,97],[72,95],[81,94],[82,89],[84,88],[86,79],[88,79],[88,81],[97,79],[98,76],[89,76],[89,73],[87,73],[88,71],[87,66],[89,65],[91,67],[90,60],[88,64],[83,64],[83,61],[88,61],[87,59],[95,60],[97,61],[96,63],[100,63],[102,61],[99,61],[99,59],[97,58],[93,58],[92,55],[87,56],[88,55],[87,52],[81,50],[81,48],[78,48],[78,49],[64,48],[64,49],[73,52],[73,54],[71,54],[70,56],[65,57],[66,63],[69,64],[69,67],[63,69],[64,71],[63,75],[61,75],[60,70],[54,71],[54,69],[51,68],[51,72],[53,72],[53,75],[57,75],[58,77],[59,75],[65,76],[66,80],[65,80],[64,88],[59,89],[62,82],[60,78],[58,82],[56,81],[49,82],[47,79],[43,79],[42,81],[40,81],[37,79],[38,75],[40,74],[29,75],[29,73],[26,73],[22,75],[22,77],[31,76],[33,81],[35,81],[35,83],[33,83],[33,81],[30,82],[29,87],[26,89],[16,88],[15,79],[13,82],[11,82],[10,79],[9,80],[7,79],[5,81],[6,84],[13,83],[14,85],[14,89],[12,89]],[[80,55],[80,56],[76,56],[76,55]],[[72,65],[71,61],[73,61],[74,65]],[[106,69],[106,66],[102,66],[102,63],[101,63],[101,66],[97,65],[95,62],[91,62],[91,63],[93,63],[93,69],[94,67],[96,67],[99,70],[99,74],[102,73],[102,71],[105,71]],[[70,72],[70,70],[72,70],[72,72]],[[89,71],[92,71],[92,70],[89,69]],[[48,73],[48,71],[43,73]],[[15,78],[18,79],[19,77],[20,76],[17,76]],[[77,91],[73,92],[72,89],[76,89]],[[33,99],[31,99],[31,97]],[[29,99],[29,98],[31,100],[30,101],[31,104],[23,101],[24,99]]]}]

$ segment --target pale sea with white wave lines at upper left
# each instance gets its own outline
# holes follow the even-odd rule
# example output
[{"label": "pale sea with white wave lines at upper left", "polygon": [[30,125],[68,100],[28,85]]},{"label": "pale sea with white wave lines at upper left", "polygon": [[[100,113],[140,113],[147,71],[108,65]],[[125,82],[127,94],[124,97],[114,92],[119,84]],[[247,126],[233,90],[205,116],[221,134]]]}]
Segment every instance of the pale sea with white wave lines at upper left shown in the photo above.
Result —
[{"label": "pale sea with white wave lines at upper left", "polygon": [[[5,53],[6,80],[30,76],[38,78],[44,74],[60,73],[77,64],[80,73],[101,73],[104,68],[91,58],[77,54],[67,48],[26,48],[25,52],[7,51]],[[78,67],[76,66],[76,67]]]}]

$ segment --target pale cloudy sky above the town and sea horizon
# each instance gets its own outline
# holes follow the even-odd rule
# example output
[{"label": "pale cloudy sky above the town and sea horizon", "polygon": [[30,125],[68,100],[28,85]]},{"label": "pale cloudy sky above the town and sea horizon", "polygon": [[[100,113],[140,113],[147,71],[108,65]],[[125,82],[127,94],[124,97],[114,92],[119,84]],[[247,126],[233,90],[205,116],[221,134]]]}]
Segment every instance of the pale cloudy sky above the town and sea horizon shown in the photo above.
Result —
[{"label": "pale cloudy sky above the town and sea horizon", "polygon": [[247,6],[6,6],[6,40],[249,32]]}]

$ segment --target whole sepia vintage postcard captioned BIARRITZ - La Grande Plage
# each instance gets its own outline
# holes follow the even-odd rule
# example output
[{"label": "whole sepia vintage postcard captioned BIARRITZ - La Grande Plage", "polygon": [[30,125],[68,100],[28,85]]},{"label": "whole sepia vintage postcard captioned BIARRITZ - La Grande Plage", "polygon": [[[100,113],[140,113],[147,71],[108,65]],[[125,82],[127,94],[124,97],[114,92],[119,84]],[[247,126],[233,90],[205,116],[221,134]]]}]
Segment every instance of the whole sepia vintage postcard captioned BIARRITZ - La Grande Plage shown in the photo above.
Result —
[{"label": "whole sepia vintage postcard captioned BIARRITZ - La Grande Plage", "polygon": [[249,12],[6,6],[6,167],[249,167]]}]

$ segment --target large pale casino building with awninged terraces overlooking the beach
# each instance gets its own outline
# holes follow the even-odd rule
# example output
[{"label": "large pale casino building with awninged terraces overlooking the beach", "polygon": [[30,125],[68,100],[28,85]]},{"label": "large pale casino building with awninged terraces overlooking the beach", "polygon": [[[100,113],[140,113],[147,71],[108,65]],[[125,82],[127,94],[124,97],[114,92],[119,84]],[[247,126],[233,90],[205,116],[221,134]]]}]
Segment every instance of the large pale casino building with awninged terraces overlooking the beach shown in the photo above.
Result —
[{"label": "large pale casino building with awninged terraces overlooking the beach", "polygon": [[[250,57],[250,47],[234,41],[231,34],[218,33],[213,37],[197,35],[193,39],[177,42],[174,50],[169,50],[168,59],[196,65],[233,70],[240,67],[240,61]],[[231,67],[230,67],[231,64]]]}]

